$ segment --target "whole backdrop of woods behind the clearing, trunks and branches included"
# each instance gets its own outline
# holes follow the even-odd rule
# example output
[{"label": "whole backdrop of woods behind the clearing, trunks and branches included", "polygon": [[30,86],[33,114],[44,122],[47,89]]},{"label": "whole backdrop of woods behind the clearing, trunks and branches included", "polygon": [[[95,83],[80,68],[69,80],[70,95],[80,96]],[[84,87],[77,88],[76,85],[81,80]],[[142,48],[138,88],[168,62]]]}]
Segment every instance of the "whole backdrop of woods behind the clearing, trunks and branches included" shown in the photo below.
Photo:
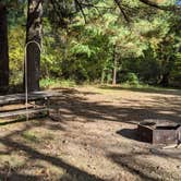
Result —
[{"label": "whole backdrop of woods behind the clearing, trunks and branches included", "polygon": [[29,90],[39,89],[39,79],[180,86],[179,1],[4,0],[0,17],[3,88],[9,75],[23,85],[29,41],[41,48],[27,46]]}]

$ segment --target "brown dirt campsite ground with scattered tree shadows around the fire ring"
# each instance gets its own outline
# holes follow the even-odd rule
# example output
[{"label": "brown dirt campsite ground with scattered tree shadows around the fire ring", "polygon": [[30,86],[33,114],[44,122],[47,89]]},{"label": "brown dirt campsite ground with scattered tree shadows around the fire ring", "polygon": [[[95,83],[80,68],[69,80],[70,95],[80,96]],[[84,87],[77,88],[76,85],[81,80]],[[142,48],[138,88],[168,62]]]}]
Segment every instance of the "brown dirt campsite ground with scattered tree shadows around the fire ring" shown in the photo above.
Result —
[{"label": "brown dirt campsite ground with scattered tree shadows around the fire ring", "polygon": [[145,119],[181,122],[180,90],[56,89],[51,117],[0,121],[0,180],[181,180],[181,148],[136,138]]}]

